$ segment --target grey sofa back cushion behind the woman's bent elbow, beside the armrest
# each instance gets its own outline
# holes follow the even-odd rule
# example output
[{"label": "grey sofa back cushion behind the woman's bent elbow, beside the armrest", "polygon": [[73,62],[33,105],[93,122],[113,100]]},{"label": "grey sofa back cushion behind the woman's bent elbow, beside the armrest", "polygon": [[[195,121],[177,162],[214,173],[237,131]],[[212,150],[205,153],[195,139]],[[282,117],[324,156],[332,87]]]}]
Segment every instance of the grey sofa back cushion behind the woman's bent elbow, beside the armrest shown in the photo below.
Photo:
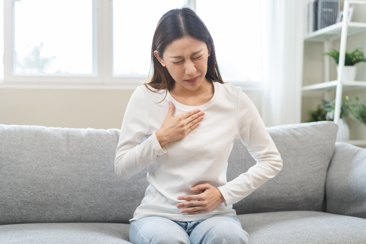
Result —
[{"label": "grey sofa back cushion behind the woman's bent elbow, beside the armrest", "polygon": [[[276,177],[234,204],[237,214],[290,210],[325,211],[326,171],[338,126],[331,121],[267,127],[283,160]],[[237,140],[228,160],[227,180],[255,164]]]}]

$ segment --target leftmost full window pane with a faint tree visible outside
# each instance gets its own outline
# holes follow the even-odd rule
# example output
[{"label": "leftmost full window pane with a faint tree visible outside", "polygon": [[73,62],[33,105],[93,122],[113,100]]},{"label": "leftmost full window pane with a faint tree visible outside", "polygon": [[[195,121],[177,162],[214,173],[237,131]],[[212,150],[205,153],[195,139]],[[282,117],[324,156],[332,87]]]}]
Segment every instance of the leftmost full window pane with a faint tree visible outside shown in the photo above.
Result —
[{"label": "leftmost full window pane with a faint tree visible outside", "polygon": [[92,0],[14,6],[14,74],[93,74]]}]

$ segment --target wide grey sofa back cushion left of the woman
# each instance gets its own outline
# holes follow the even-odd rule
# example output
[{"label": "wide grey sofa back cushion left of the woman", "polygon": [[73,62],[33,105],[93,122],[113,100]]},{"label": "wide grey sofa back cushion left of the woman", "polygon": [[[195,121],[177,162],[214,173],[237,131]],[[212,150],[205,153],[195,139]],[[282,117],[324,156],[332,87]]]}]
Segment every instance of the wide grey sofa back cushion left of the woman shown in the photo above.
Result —
[{"label": "wide grey sofa back cushion left of the woman", "polygon": [[149,185],[114,172],[120,130],[0,125],[0,225],[129,223]]}]

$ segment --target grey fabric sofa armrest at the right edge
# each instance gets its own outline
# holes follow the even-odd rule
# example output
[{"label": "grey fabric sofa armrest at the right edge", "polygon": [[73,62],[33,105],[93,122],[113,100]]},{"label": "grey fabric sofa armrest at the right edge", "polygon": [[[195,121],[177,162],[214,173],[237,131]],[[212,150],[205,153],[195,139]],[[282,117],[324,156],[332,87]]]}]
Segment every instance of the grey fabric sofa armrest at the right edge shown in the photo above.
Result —
[{"label": "grey fabric sofa armrest at the right edge", "polygon": [[326,212],[366,218],[366,148],[336,142],[325,196]]}]

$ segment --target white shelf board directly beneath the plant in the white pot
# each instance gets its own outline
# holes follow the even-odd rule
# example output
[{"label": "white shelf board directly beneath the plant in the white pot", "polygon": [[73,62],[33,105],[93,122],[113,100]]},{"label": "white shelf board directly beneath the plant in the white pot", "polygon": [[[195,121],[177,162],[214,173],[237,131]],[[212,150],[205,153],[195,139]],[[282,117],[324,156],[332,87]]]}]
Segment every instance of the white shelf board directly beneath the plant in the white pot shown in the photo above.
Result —
[{"label": "white shelf board directly beneath the plant in the white pot", "polygon": [[[363,89],[366,88],[366,81],[342,81],[343,90]],[[303,86],[302,91],[334,91],[337,88],[337,81],[328,81],[318,84]]]}]

